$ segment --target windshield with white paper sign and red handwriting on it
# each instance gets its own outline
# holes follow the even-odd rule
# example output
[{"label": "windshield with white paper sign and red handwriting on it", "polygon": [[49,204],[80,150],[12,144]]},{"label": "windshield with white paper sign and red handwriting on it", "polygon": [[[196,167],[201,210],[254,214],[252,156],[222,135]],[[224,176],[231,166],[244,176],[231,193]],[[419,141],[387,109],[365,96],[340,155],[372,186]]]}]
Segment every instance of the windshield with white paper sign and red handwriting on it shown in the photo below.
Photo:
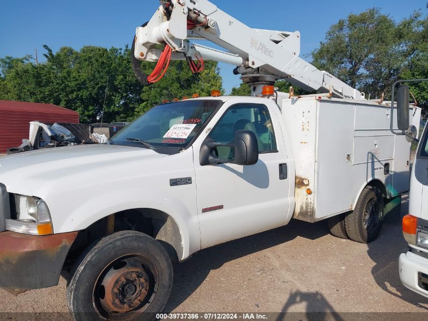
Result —
[{"label": "windshield with white paper sign and red handwriting on it", "polygon": [[[185,148],[222,104],[221,100],[182,100],[154,106],[112,137],[114,144]],[[148,143],[148,144],[146,144]]]}]

